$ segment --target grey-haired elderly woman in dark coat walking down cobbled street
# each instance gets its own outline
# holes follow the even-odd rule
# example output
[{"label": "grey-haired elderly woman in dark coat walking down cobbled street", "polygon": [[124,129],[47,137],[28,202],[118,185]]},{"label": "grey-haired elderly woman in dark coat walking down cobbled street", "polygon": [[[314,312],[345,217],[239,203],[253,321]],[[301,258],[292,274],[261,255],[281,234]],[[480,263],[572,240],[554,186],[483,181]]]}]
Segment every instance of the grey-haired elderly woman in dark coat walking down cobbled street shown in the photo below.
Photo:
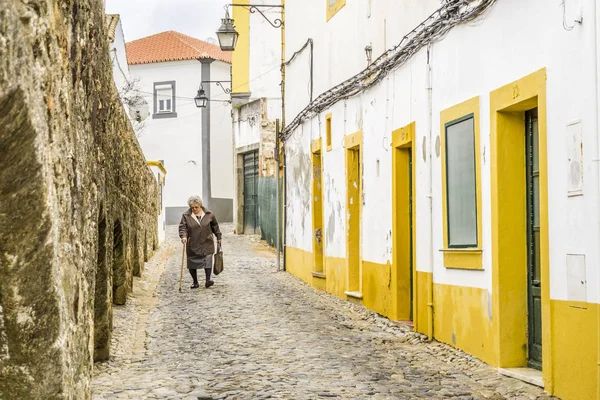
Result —
[{"label": "grey-haired elderly woman in dark coat walking down cobbled street", "polygon": [[192,289],[200,287],[198,284],[198,269],[204,269],[206,274],[205,287],[211,287],[214,282],[210,280],[212,257],[215,253],[213,235],[217,237],[221,246],[221,231],[214,214],[202,206],[199,196],[192,196],[188,200],[189,210],[181,216],[179,223],[179,237],[181,243],[187,244],[187,265],[190,275],[194,280]]}]

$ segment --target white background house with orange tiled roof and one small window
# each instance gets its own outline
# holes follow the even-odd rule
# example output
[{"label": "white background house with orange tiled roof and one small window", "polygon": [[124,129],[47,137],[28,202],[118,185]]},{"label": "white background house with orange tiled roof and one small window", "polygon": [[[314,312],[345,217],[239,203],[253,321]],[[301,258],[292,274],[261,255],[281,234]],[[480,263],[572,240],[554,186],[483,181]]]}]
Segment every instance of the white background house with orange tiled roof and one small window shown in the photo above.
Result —
[{"label": "white background house with orange tiled roof and one small window", "polygon": [[[200,195],[219,221],[233,219],[231,62],[218,46],[178,32],[127,44],[130,71],[149,116],[139,135],[144,154],[169,173],[166,224],[177,224],[187,199]],[[204,82],[204,83],[202,83]],[[200,86],[209,98],[196,106]]]}]

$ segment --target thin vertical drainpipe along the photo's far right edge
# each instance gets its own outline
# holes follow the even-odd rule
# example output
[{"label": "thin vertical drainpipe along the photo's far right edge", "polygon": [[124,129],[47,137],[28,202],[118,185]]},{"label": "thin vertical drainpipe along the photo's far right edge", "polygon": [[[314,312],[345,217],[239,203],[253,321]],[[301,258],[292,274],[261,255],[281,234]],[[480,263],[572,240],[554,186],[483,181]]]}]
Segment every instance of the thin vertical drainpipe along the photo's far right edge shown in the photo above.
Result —
[{"label": "thin vertical drainpipe along the photo's far right edge", "polygon": [[[600,46],[600,7],[598,4],[593,1],[594,5],[594,14],[595,14],[595,22],[594,22],[594,47],[596,48],[596,70],[595,70],[595,79],[596,79],[596,157],[593,160],[596,164],[596,178],[597,178],[597,196],[598,202],[600,203],[600,52],[598,51],[598,46]],[[600,204],[598,206],[600,210]],[[600,218],[600,216],[597,216]],[[596,221],[598,225],[598,232],[600,235],[600,221]],[[599,236],[600,237],[600,236]],[[600,291],[600,275],[598,277],[598,287],[597,290]],[[598,296],[598,294],[596,294]],[[596,372],[596,398],[600,400],[600,305],[596,305],[596,320],[597,320],[597,331],[596,331],[596,340],[598,341],[598,353],[597,353],[597,372]]]}]

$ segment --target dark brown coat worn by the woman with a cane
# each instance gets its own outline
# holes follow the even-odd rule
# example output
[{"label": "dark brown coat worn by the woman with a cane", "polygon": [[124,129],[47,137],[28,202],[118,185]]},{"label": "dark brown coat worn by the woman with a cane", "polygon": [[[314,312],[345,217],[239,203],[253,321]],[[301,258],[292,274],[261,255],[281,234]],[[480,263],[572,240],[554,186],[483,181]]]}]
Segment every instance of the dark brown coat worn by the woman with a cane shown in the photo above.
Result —
[{"label": "dark brown coat worn by the woman with a cane", "polygon": [[215,242],[213,235],[217,237],[217,240],[221,240],[221,231],[219,230],[219,223],[217,218],[210,211],[202,207],[206,214],[200,225],[192,217],[192,209],[188,209],[181,216],[181,222],[179,223],[179,237],[188,238],[186,253],[187,256],[200,256],[205,257],[207,255],[214,254]]}]

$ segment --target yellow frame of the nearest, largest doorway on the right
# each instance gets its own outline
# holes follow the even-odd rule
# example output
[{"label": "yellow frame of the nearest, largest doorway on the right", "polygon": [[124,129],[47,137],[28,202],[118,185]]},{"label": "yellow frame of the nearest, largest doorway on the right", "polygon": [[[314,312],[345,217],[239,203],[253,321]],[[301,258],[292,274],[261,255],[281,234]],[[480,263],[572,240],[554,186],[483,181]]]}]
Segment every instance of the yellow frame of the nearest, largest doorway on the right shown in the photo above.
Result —
[{"label": "yellow frame of the nearest, largest doorway on the right", "polygon": [[525,123],[523,113],[538,108],[540,164],[540,257],[542,281],[542,372],[553,393],[552,312],[548,248],[548,152],[546,69],[490,93],[492,195],[492,293],[496,362],[527,363],[527,249],[525,220]]}]

